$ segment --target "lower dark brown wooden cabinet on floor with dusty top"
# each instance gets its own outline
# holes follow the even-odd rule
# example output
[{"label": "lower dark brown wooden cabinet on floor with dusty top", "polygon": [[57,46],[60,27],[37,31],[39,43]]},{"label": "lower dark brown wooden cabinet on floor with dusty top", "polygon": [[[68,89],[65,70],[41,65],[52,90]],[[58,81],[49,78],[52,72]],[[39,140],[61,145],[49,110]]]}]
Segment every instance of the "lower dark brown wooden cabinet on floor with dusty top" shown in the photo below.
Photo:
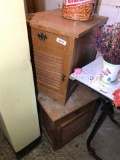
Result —
[{"label": "lower dark brown wooden cabinet on floor with dusty top", "polygon": [[98,96],[83,86],[78,86],[65,106],[39,93],[42,128],[54,150],[89,127]]}]

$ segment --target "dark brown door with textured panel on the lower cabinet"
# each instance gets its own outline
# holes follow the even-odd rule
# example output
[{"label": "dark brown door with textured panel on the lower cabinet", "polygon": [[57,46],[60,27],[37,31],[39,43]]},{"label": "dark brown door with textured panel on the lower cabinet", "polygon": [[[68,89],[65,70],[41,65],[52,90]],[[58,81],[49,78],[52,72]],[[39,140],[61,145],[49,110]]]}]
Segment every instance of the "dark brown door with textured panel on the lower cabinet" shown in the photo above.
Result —
[{"label": "dark brown door with textured panel on the lower cabinet", "polygon": [[87,130],[90,125],[93,113],[93,104],[89,104],[86,111],[77,110],[71,114],[71,118],[61,122],[57,126],[57,142],[56,146],[60,148],[71,139],[76,137],[78,134],[83,133]]}]

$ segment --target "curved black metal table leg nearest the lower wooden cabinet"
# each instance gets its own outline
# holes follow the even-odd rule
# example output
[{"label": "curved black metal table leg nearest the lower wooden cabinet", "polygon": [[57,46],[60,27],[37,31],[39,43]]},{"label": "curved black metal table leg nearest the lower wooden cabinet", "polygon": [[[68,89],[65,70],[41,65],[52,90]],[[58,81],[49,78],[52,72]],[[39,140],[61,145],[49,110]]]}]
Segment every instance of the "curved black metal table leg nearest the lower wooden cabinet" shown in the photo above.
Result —
[{"label": "curved black metal table leg nearest the lower wooden cabinet", "polygon": [[109,103],[108,101],[106,101],[105,99],[102,99],[102,104],[103,104],[103,108],[102,108],[102,112],[92,130],[92,132],[90,133],[88,140],[87,140],[87,148],[89,153],[96,159],[96,160],[101,160],[101,158],[99,158],[94,149],[91,147],[91,141],[94,138],[95,134],[97,133],[97,131],[99,130],[100,126],[102,125],[103,121],[106,119],[106,117],[109,114]]}]

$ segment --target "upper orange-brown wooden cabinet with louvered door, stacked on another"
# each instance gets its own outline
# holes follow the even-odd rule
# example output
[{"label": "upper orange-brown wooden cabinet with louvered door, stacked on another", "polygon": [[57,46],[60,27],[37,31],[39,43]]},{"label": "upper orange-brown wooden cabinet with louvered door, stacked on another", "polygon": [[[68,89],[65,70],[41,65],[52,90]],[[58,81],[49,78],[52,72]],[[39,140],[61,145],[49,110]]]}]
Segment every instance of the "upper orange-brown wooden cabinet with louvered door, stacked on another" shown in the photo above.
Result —
[{"label": "upper orange-brown wooden cabinet with louvered door, stacked on another", "polygon": [[61,10],[37,12],[29,15],[33,59],[38,91],[65,104],[76,85],[69,75],[95,58],[90,47],[90,35],[107,21],[95,15],[92,21],[78,22],[64,19]]}]

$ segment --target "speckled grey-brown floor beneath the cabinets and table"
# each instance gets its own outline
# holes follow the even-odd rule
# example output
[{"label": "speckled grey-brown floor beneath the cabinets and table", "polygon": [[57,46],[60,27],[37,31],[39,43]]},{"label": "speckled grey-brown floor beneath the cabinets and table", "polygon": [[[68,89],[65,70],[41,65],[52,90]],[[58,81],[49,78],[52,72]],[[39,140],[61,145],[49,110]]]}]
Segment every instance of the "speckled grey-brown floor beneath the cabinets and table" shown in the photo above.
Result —
[{"label": "speckled grey-brown floor beneath the cabinets and table", "polygon": [[[88,153],[86,140],[90,134],[99,113],[99,109],[90,127],[83,134],[80,134],[58,151],[54,152],[43,134],[41,143],[21,160],[94,160]],[[115,109],[116,117],[120,121],[120,110]],[[120,160],[120,128],[107,118],[92,142],[97,155],[102,160]],[[0,132],[0,160],[17,160],[13,150]]]}]

